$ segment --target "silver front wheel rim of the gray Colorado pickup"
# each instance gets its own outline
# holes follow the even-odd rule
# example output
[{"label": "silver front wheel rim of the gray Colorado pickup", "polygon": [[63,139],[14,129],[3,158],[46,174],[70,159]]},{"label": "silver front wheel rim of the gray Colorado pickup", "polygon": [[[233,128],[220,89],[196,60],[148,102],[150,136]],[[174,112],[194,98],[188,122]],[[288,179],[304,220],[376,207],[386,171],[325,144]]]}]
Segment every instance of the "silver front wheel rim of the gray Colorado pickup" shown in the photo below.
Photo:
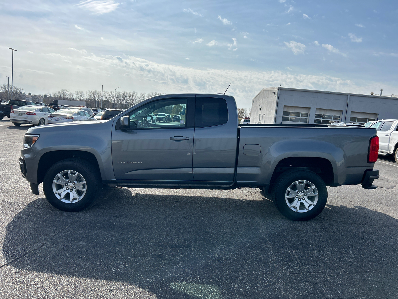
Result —
[{"label": "silver front wheel rim of the gray Colorado pickup", "polygon": [[86,180],[74,170],[64,170],[53,179],[55,197],[63,203],[77,203],[86,195]]}]

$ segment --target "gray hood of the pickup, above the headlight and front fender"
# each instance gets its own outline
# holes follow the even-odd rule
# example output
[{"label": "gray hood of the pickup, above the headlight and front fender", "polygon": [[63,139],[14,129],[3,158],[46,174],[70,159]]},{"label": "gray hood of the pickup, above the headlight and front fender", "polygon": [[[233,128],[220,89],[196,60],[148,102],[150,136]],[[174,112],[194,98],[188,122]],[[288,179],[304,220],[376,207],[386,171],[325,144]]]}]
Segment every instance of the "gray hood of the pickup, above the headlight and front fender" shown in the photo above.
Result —
[{"label": "gray hood of the pickup, above the headlight and front fender", "polygon": [[92,131],[105,130],[113,125],[113,120],[99,120],[93,122],[92,120],[84,122],[67,122],[65,124],[49,124],[45,126],[32,127],[26,131],[26,134],[45,134],[45,133],[58,133],[58,132],[73,132],[73,131]]}]

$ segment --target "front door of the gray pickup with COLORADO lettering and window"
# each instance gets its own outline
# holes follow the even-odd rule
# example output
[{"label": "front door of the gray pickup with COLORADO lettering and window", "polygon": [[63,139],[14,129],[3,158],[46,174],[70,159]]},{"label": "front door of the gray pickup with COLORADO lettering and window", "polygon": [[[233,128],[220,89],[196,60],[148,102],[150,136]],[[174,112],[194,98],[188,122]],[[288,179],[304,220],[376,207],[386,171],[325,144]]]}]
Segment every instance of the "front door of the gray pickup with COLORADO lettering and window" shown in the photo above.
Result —
[{"label": "front door of the gray pickup with COLORADO lettering and window", "polygon": [[[118,120],[112,131],[117,180],[193,181],[194,101],[193,97],[165,98],[120,114],[129,116],[130,128],[119,130]],[[183,109],[188,113],[178,122],[156,122],[153,117],[158,113],[178,114]]]}]

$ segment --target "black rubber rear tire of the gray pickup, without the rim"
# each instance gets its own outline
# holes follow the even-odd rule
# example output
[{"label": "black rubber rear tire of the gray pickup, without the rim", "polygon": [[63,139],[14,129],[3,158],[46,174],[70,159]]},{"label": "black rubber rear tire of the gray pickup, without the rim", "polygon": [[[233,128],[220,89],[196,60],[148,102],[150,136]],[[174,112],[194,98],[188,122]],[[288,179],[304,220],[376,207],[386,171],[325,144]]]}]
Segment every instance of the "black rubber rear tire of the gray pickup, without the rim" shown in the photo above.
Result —
[{"label": "black rubber rear tire of the gray pickup, without the rim", "polygon": [[[308,181],[316,187],[318,191],[318,200],[312,208],[308,208],[308,211],[304,211],[304,202],[301,202],[302,204],[298,203],[299,210],[302,212],[297,212],[287,205],[286,201],[288,199],[285,198],[285,195],[287,194],[287,189],[291,184],[301,180]],[[293,193],[291,194],[293,195]],[[272,198],[275,207],[283,216],[290,220],[306,221],[315,218],[320,214],[320,212],[322,212],[328,200],[328,190],[326,189],[326,185],[322,178],[316,173],[309,170],[292,170],[282,173],[277,178],[276,183],[272,187]],[[308,199],[313,200],[314,197],[308,196]],[[292,198],[289,200],[294,201],[295,199]],[[306,203],[308,202],[306,201]],[[300,207],[302,207],[302,209],[300,209]]]}]

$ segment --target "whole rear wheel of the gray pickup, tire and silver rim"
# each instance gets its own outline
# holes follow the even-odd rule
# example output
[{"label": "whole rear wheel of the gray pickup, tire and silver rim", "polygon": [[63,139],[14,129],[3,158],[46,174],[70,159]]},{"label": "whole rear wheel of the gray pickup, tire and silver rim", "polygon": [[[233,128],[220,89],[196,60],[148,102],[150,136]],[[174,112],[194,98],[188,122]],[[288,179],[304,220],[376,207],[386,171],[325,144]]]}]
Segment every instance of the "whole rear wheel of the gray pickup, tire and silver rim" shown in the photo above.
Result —
[{"label": "whole rear wheel of the gray pickup, tire and silver rim", "polygon": [[309,170],[282,173],[272,188],[275,207],[283,216],[295,221],[315,218],[328,200],[328,190],[322,178]]}]

